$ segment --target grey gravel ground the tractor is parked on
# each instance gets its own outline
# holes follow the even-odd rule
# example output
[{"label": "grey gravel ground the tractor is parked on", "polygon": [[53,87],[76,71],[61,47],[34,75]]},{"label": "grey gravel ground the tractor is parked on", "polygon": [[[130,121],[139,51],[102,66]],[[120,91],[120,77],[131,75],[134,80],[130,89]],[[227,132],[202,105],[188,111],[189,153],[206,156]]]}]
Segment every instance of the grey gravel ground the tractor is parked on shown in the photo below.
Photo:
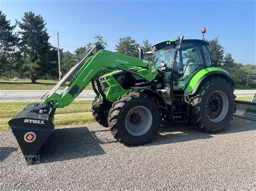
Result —
[{"label": "grey gravel ground the tractor is parked on", "polygon": [[165,123],[152,143],[126,147],[96,123],[59,126],[26,166],[0,131],[0,189],[252,189],[256,122],[234,118],[218,134]]}]

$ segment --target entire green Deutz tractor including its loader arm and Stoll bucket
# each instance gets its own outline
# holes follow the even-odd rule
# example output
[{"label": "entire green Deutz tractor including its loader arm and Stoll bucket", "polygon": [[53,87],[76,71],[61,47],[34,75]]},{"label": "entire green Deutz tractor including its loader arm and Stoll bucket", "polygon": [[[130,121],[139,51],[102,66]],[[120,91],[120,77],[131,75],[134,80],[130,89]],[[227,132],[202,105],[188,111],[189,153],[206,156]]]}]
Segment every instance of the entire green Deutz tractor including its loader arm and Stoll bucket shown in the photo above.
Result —
[{"label": "entire green Deutz tractor including its loader arm and Stoll bucket", "polygon": [[[190,122],[205,132],[226,128],[235,112],[234,82],[215,66],[204,40],[170,39],[152,47],[152,59],[122,55],[96,45],[46,95],[44,103],[25,107],[9,121],[28,162],[54,129],[54,114],[91,82],[92,113],[118,142],[145,144],[162,119]],[[98,77],[100,71],[111,72]],[[61,94],[56,91],[70,81]]]}]

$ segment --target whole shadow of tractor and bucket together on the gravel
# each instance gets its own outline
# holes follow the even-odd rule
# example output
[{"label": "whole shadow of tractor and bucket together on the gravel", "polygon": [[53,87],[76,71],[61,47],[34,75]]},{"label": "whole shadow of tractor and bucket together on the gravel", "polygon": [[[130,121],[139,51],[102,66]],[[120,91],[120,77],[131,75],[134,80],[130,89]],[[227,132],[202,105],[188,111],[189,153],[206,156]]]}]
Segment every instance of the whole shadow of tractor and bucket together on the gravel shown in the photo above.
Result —
[{"label": "whole shadow of tractor and bucket together on the gravel", "polygon": [[[234,118],[230,126],[218,133],[204,133],[194,130],[189,123],[163,122],[161,123],[157,136],[151,143],[138,145],[136,147],[209,139],[213,138],[213,135],[253,130],[256,130],[256,122],[239,118]],[[38,152],[40,155],[40,163],[65,161],[106,154],[101,146],[104,144],[120,143],[112,137],[108,129],[104,129],[102,126],[99,126],[99,128],[94,131],[89,131],[85,126],[57,128]]]}]

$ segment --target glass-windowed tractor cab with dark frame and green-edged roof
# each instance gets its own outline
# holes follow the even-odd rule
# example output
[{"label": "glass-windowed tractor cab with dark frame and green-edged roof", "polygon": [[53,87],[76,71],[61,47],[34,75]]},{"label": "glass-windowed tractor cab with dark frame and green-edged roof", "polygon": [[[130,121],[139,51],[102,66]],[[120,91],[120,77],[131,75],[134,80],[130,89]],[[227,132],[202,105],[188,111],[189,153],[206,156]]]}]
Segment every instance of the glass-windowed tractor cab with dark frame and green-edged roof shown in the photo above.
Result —
[{"label": "glass-windowed tractor cab with dark frame and green-edged roof", "polygon": [[172,72],[173,89],[184,90],[200,69],[212,67],[208,43],[203,40],[185,39],[178,49],[176,61],[173,59],[176,51],[176,39],[165,40],[153,46],[152,61],[163,72],[164,86],[171,86]]}]

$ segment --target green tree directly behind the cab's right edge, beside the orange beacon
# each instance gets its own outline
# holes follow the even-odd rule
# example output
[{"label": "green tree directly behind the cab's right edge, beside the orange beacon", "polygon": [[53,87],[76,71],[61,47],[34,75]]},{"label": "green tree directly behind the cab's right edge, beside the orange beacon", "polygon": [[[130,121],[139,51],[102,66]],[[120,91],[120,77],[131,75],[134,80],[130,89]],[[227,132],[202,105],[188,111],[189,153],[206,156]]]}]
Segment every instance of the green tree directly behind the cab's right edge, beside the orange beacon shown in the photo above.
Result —
[{"label": "green tree directly behind the cab's right edge, beside the orange beacon", "polygon": [[208,49],[211,53],[213,63],[221,65],[224,57],[224,48],[219,44],[219,37],[208,41],[208,43]]}]

